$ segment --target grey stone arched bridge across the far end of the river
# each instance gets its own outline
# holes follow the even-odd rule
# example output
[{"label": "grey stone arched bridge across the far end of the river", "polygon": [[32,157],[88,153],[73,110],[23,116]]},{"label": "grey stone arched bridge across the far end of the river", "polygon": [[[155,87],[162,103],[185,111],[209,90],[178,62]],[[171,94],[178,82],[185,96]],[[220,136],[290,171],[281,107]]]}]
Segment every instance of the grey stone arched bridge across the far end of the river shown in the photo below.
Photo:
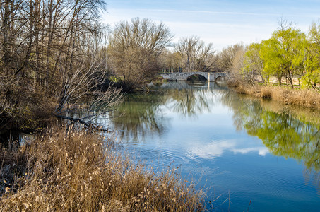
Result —
[{"label": "grey stone arched bridge across the far end of the river", "polygon": [[226,74],[224,72],[174,72],[174,73],[160,73],[160,75],[168,81],[186,81],[190,76],[200,75],[206,78],[207,81],[216,81],[218,78],[225,78]]}]

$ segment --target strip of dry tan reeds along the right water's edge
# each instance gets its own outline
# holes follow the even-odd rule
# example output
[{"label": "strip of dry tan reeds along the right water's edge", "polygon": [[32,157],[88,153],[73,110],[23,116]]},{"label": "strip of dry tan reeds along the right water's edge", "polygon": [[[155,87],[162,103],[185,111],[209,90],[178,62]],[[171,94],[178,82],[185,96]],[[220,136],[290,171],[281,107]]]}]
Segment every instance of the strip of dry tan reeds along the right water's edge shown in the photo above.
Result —
[{"label": "strip of dry tan reeds along the right water's edge", "polygon": [[229,81],[228,86],[237,93],[253,95],[256,98],[271,99],[286,104],[302,105],[305,107],[320,108],[320,93],[317,90],[302,88],[287,88],[275,86],[244,85],[239,81]]}]

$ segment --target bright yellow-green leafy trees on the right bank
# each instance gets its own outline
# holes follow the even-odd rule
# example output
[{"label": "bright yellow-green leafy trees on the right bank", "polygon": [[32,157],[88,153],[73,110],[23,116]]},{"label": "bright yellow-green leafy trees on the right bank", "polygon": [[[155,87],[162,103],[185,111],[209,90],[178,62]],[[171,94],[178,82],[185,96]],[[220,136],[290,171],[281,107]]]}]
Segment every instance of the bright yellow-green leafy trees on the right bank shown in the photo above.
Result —
[{"label": "bright yellow-green leafy trees on the right bank", "polygon": [[300,78],[303,87],[316,89],[320,83],[319,23],[312,23],[308,36],[280,23],[270,39],[247,47],[240,73],[250,84],[254,84],[254,76],[260,75],[265,83],[277,78],[279,86],[286,78],[293,88],[294,78]]}]

